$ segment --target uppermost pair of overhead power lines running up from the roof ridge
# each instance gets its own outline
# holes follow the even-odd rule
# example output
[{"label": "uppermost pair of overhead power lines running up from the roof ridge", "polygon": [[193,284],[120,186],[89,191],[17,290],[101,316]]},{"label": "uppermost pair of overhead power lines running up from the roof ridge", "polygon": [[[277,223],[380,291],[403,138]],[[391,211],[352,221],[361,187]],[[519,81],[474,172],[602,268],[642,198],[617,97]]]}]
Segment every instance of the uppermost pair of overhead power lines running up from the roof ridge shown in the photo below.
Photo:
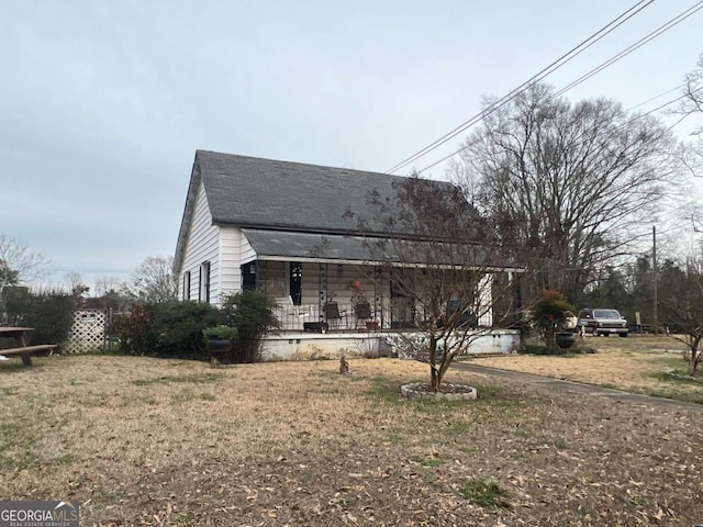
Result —
[{"label": "uppermost pair of overhead power lines running up from the roof ridge", "polygon": [[[438,139],[434,141],[429,145],[425,146],[421,150],[416,152],[412,156],[403,159],[401,162],[395,165],[393,168],[387,170],[387,173],[392,173],[392,172],[394,172],[397,170],[400,170],[401,168],[410,165],[411,162],[413,162],[414,160],[419,159],[420,157],[423,157],[428,152],[434,150],[438,146],[443,145],[444,143],[446,143],[450,138],[456,137],[458,134],[460,134],[461,132],[464,132],[468,127],[470,127],[473,124],[476,124],[477,122],[479,122],[486,115],[488,115],[491,112],[494,112],[495,110],[502,108],[507,102],[510,102],[515,97],[517,97],[520,93],[525,91],[529,86],[532,86],[535,82],[538,82],[539,80],[546,78],[547,76],[549,76],[550,74],[553,74],[554,71],[559,69],[561,66],[563,66],[569,60],[573,59],[574,57],[577,57],[578,55],[583,53],[585,49],[591,47],[593,44],[599,42],[601,38],[606,36],[609,33],[611,33],[612,31],[614,31],[615,29],[617,29],[618,26],[621,26],[625,22],[627,22],[629,19],[635,16],[637,13],[639,13],[641,10],[644,10],[645,8],[650,5],[652,2],[654,2],[654,0],[648,0],[648,1],[647,0],[640,0],[639,2],[634,4],[632,8],[629,8],[627,11],[622,13],[620,16],[617,16],[614,20],[612,20],[606,25],[604,25],[599,31],[596,31],[591,36],[589,36],[587,40],[581,42],[579,45],[577,45],[576,47],[571,48],[566,54],[561,55],[558,59],[553,61],[546,68],[542,69],[538,74],[534,75],[533,77],[531,77],[529,79],[524,81],[522,85],[520,85],[517,88],[515,88],[514,90],[509,92],[506,96],[503,96],[501,99],[499,99],[498,101],[493,102],[489,108],[483,109],[481,112],[479,112],[478,114],[476,114],[475,116],[472,116],[468,121],[464,122],[459,126],[455,127],[454,130],[451,130],[447,134],[443,135],[442,137],[439,137]],[[645,3],[645,4],[641,5],[643,3]]]}]

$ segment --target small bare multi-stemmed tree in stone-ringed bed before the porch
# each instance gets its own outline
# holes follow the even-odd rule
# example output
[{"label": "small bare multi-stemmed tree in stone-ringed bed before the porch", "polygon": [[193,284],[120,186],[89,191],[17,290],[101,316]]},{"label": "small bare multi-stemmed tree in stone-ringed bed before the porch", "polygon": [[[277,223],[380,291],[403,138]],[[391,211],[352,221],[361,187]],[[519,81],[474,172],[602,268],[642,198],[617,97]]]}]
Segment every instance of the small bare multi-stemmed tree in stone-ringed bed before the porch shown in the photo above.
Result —
[{"label": "small bare multi-stemmed tree in stone-ringed bed before the porch", "polygon": [[[521,269],[458,187],[413,177],[394,190],[394,197],[369,197],[372,223],[383,231],[365,240],[369,259],[380,265],[369,278],[388,280],[391,326],[414,329],[394,335],[409,355],[429,365],[429,389],[437,391],[471,343],[515,322],[514,271]],[[361,218],[359,227],[371,231]]]}]

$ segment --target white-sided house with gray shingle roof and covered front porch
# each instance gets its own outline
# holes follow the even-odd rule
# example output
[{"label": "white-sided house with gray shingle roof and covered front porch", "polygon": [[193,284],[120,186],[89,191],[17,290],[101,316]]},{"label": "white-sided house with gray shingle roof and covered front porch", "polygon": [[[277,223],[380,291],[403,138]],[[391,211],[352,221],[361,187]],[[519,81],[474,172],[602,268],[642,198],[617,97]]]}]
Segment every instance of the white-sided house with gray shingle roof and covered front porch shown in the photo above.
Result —
[{"label": "white-sided house with gray shingle roof and covered front porch", "polygon": [[[392,197],[406,179],[198,150],[174,258],[179,296],[217,304],[266,291],[289,334],[412,327],[422,313],[369,244],[393,234],[369,194]],[[403,266],[423,264],[399,258]],[[492,325],[490,311],[481,323]]]}]

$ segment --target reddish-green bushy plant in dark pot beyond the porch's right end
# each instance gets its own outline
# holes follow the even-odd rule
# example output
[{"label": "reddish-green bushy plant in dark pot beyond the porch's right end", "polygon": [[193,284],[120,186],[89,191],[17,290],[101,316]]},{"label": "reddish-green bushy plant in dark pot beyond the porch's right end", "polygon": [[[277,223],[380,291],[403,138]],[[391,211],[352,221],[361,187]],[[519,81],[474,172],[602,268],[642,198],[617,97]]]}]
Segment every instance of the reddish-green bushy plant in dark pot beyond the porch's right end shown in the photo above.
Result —
[{"label": "reddish-green bushy plant in dark pot beyond the porch's right end", "polygon": [[549,349],[573,346],[573,329],[569,330],[574,309],[559,291],[546,289],[535,302],[532,318]]}]

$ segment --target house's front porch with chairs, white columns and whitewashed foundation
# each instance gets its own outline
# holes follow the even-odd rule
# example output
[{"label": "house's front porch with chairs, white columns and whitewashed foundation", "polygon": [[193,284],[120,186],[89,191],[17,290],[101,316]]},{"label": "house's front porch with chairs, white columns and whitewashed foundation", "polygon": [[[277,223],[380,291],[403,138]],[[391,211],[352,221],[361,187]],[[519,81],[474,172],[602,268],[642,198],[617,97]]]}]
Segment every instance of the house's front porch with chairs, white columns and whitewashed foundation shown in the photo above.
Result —
[{"label": "house's front porch with chairs, white columns and whitewashed foundation", "polygon": [[264,291],[277,304],[279,328],[265,337],[265,360],[402,357],[403,343],[423,339],[421,328],[436,323],[437,313],[461,315],[461,330],[471,334],[462,354],[520,348],[520,332],[510,328],[518,306],[514,269],[393,266],[362,259],[359,240],[355,248],[347,238],[314,245],[317,238],[302,234],[245,235],[253,250],[241,267],[242,287]]}]

